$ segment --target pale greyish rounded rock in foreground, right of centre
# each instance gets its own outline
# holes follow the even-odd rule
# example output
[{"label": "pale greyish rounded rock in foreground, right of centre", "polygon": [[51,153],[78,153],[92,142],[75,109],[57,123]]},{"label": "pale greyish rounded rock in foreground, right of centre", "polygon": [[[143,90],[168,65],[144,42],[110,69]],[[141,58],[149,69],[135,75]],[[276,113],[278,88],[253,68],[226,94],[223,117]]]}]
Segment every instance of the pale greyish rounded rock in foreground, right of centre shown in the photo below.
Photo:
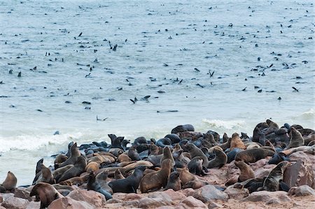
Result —
[{"label": "pale greyish rounded rock in foreground, right of centre", "polygon": [[204,203],[208,203],[209,201],[214,201],[214,200],[222,200],[222,201],[228,200],[228,194],[221,192],[220,190],[216,189],[216,187],[212,185],[205,185],[204,187],[201,187],[200,189],[196,189],[196,192],[193,194],[193,197],[195,197],[196,199],[199,199],[200,201]]}]

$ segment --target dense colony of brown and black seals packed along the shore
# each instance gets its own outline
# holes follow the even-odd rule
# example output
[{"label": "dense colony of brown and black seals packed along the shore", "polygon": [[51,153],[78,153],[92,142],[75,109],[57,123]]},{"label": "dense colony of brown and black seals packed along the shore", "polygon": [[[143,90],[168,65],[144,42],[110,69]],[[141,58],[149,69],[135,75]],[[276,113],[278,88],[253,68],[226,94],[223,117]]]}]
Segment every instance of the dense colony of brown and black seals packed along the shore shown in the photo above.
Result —
[{"label": "dense colony of brown and black seals packed along the shore", "polygon": [[[248,194],[288,192],[300,185],[315,188],[315,164],[308,171],[311,178],[304,180],[298,167],[301,160],[292,157],[296,152],[314,156],[313,129],[297,124],[280,127],[267,120],[257,124],[253,137],[244,133],[221,137],[211,130],[202,134],[191,124],[175,127],[171,133],[158,140],[141,136],[133,143],[115,134],[109,134],[111,144],[102,141],[78,147],[70,142],[66,152],[55,155],[54,165],[38,160],[32,185],[17,187],[17,178],[8,171],[0,192],[16,196],[22,189],[25,195],[18,197],[40,201],[40,208],[49,208],[78,190],[97,192],[109,201],[116,193],[181,192],[207,185],[221,191],[246,189]],[[257,172],[266,165],[268,172]],[[214,171],[226,168],[230,174],[234,169],[234,175],[221,183],[212,180]]]}]

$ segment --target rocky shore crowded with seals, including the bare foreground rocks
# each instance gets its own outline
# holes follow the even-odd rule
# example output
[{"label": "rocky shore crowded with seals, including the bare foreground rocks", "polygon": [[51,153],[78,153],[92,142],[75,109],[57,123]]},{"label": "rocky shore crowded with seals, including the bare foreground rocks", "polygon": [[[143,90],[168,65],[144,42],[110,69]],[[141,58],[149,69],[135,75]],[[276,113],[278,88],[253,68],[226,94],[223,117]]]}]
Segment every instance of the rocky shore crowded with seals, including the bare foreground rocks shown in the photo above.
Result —
[{"label": "rocky shore crowded with seals, including the bare foreground rocks", "polygon": [[314,208],[315,131],[260,122],[253,136],[181,125],[155,140],[69,143],[34,182],[8,172],[1,208]]}]

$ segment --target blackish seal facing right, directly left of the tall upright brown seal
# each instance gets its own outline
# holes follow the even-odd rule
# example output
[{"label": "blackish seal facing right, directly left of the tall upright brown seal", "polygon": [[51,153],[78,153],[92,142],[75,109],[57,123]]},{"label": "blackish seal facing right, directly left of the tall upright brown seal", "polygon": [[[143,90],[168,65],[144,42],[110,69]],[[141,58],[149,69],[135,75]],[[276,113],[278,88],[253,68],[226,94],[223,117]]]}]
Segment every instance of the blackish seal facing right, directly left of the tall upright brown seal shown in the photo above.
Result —
[{"label": "blackish seal facing right, directly left of the tall upright brown seal", "polygon": [[109,187],[113,189],[113,192],[123,192],[123,193],[137,193],[139,183],[144,175],[144,170],[146,166],[137,166],[134,169],[134,173],[129,175],[125,179],[113,180],[109,182]]}]

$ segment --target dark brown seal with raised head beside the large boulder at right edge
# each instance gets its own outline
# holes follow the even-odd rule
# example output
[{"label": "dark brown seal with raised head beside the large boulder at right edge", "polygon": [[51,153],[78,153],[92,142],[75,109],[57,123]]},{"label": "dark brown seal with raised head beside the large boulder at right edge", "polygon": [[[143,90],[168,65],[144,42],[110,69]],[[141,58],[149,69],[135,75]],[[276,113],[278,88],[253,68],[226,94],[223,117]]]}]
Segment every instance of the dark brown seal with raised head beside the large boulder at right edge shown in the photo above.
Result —
[{"label": "dark brown seal with raised head beside the large boulder at right edge", "polygon": [[269,192],[275,192],[279,191],[279,189],[284,190],[281,187],[281,183],[283,180],[283,172],[286,170],[286,168],[290,166],[290,162],[288,161],[281,161],[272,171],[270,171],[269,175],[265,179],[263,183],[263,189],[269,191]]}]

